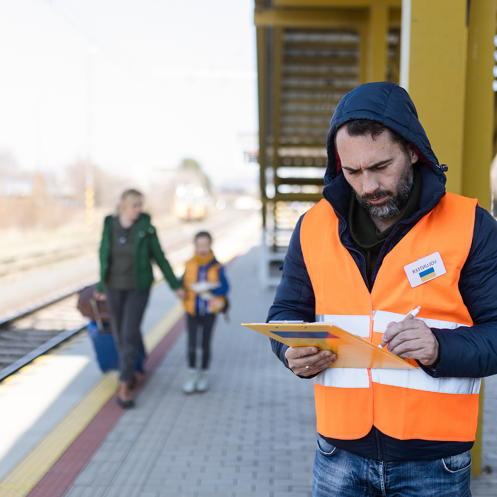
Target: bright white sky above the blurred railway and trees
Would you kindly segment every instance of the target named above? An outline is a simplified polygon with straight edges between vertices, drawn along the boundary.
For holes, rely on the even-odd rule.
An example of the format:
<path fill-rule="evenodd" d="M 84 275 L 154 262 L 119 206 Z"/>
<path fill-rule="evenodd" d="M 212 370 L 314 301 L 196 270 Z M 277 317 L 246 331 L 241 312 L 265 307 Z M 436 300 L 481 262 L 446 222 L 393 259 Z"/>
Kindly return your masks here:
<path fill-rule="evenodd" d="M 257 131 L 252 17 L 253 0 L 0 0 L 0 151 L 58 170 L 89 150 L 126 175 L 193 157 L 221 182 Z"/>

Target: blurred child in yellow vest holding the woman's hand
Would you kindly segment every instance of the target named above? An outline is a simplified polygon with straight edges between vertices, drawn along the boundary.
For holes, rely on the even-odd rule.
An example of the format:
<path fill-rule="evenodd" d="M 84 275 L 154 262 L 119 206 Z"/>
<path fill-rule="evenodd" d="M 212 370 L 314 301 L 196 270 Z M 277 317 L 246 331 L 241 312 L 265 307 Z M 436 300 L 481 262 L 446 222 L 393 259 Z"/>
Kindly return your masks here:
<path fill-rule="evenodd" d="M 212 237 L 206 231 L 195 235 L 195 255 L 186 263 L 183 306 L 188 325 L 188 373 L 183 384 L 185 393 L 204 392 L 209 388 L 207 368 L 210 358 L 212 328 L 218 312 L 226 309 L 228 281 L 223 266 L 211 250 Z M 201 330 L 202 357 L 196 369 L 198 331 Z"/>

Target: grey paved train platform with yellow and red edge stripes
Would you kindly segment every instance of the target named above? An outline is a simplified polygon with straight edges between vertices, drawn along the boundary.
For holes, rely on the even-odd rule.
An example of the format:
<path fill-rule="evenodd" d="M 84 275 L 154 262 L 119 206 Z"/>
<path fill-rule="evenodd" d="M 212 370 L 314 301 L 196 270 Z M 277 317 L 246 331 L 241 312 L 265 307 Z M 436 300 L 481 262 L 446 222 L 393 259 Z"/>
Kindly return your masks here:
<path fill-rule="evenodd" d="M 216 325 L 211 388 L 205 393 L 181 391 L 184 322 L 164 285 L 154 291 L 147 314 L 150 373 L 139 386 L 134 409 L 116 405 L 115 375 L 102 377 L 92 360 L 74 359 L 88 358 L 84 339 L 60 352 L 61 358 L 72 357 L 71 367 L 79 373 L 52 394 L 55 400 L 31 423 L 31 431 L 4 449 L 0 497 L 310 496 L 317 437 L 313 382 L 286 370 L 266 337 L 240 326 L 264 321 L 274 296 L 274 289 L 261 290 L 258 284 L 260 256 L 259 247 L 251 248 L 227 268 L 230 321 L 220 316 Z M 38 389 L 55 377 L 40 379 Z M 6 405 L 1 406 L 2 397 L 22 384 L 7 383 L 0 391 L 0 413 Z M 30 388 L 38 395 L 34 406 L 41 394 Z M 496 404 L 492 377 L 485 382 L 486 472 L 472 482 L 477 497 L 497 495 Z"/>

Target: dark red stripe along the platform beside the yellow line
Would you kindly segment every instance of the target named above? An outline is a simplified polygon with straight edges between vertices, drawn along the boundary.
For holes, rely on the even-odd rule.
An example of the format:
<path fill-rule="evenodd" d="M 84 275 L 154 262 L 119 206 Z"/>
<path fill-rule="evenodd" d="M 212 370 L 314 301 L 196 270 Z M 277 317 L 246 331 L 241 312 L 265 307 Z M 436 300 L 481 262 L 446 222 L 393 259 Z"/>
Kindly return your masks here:
<path fill-rule="evenodd" d="M 184 330 L 185 322 L 183 316 L 147 357 L 148 377 L 160 364 L 181 331 Z M 140 393 L 146 381 L 145 379 L 137 385 L 135 395 Z M 28 497 L 64 496 L 123 412 L 123 409 L 116 404 L 116 396 L 114 395 L 36 484 Z"/>

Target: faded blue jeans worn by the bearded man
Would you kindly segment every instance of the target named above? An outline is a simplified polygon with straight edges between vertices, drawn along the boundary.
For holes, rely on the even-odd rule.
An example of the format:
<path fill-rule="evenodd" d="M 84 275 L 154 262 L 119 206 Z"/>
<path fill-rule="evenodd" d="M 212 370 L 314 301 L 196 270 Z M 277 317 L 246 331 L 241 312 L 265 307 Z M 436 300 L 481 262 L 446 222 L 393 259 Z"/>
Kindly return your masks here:
<path fill-rule="evenodd" d="M 321 437 L 313 497 L 471 497 L 470 451 L 434 461 L 375 461 Z"/>

